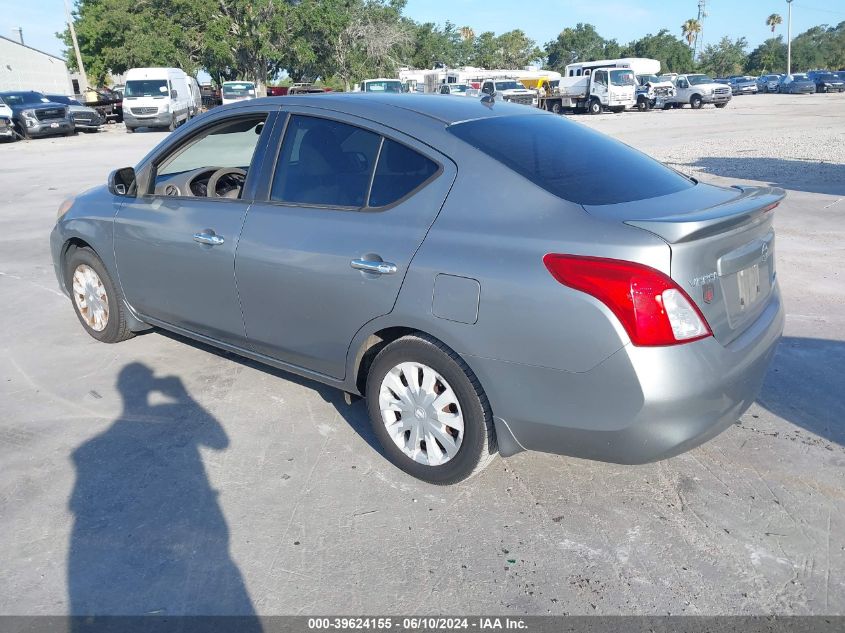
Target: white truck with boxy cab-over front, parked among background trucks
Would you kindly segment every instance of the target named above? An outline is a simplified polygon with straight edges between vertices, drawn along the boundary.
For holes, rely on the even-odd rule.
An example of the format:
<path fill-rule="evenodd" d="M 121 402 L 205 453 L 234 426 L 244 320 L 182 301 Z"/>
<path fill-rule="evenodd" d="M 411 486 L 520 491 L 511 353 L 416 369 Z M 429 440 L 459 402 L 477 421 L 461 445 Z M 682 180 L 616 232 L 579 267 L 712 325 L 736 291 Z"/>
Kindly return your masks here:
<path fill-rule="evenodd" d="M 622 112 L 636 104 L 636 86 L 634 71 L 629 68 L 597 68 L 592 74 L 548 82 L 537 105 L 551 112 L 586 110 L 601 114 L 605 108 Z"/>

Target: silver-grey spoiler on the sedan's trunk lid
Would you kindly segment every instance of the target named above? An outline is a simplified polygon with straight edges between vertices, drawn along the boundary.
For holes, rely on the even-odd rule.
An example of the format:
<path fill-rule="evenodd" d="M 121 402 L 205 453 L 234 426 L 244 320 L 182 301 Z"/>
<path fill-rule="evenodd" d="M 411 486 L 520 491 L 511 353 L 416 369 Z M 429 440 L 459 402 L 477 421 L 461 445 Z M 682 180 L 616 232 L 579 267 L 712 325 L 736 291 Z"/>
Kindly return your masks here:
<path fill-rule="evenodd" d="M 625 220 L 670 244 L 690 242 L 751 224 L 786 197 L 780 187 L 734 185 L 740 195 L 719 204 L 676 215 Z"/>

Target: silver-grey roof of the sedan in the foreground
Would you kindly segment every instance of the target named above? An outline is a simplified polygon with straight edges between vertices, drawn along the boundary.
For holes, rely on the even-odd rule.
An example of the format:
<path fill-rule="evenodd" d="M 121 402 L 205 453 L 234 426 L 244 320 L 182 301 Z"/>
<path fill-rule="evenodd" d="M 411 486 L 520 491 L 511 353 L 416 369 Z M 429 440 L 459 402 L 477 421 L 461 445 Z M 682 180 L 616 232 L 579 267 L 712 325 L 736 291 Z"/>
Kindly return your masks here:
<path fill-rule="evenodd" d="M 313 108 L 334 110 L 364 118 L 378 117 L 388 125 L 407 120 L 409 116 L 434 119 L 446 125 L 459 121 L 495 116 L 543 114 L 539 108 L 507 103 L 497 99 L 443 99 L 437 94 L 371 94 L 335 93 L 296 95 L 293 97 L 263 97 L 249 103 L 274 103 L 279 105 L 307 105 Z"/>

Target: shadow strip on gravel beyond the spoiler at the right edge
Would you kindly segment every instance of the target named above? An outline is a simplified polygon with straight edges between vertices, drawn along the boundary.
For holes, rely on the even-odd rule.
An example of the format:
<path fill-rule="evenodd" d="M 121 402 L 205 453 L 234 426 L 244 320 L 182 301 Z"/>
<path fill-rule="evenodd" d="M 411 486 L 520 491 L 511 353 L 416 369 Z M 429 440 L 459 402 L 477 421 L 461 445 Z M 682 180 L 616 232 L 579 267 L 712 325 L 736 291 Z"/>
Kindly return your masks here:
<path fill-rule="evenodd" d="M 754 157 L 702 157 L 692 162 L 668 161 L 689 172 L 723 178 L 759 180 L 773 186 L 834 196 L 845 195 L 845 164 Z"/>

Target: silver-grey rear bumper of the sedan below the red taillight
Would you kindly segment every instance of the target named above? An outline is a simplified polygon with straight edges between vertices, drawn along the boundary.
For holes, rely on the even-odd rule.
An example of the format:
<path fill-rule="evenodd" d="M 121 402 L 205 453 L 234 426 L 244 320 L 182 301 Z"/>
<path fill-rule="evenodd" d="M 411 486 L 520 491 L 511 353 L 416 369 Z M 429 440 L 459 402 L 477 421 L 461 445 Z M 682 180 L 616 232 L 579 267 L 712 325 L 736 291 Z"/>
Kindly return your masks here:
<path fill-rule="evenodd" d="M 732 425 L 754 402 L 783 332 L 775 287 L 761 316 L 723 346 L 626 345 L 583 373 L 470 357 L 498 429 L 521 448 L 622 464 L 665 459 Z"/>

